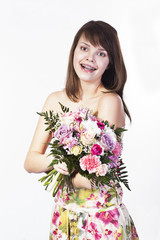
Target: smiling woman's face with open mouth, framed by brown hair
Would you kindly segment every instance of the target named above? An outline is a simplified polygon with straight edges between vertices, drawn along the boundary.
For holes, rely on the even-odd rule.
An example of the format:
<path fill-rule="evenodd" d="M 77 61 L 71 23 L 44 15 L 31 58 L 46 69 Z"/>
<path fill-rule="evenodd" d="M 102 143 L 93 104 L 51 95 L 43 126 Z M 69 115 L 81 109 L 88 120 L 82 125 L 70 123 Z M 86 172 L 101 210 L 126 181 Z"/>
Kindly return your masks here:
<path fill-rule="evenodd" d="M 102 46 L 94 47 L 82 35 L 74 51 L 73 66 L 82 81 L 101 82 L 109 64 L 109 56 Z"/>

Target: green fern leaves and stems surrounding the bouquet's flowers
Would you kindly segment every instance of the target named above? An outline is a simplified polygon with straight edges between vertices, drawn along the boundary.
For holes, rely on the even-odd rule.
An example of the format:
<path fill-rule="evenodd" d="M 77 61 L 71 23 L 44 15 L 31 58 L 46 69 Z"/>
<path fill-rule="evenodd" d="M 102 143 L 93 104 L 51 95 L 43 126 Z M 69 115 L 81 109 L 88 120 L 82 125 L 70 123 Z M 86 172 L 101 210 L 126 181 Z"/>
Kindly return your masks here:
<path fill-rule="evenodd" d="M 69 108 L 63 106 L 59 102 L 62 112 L 66 113 L 69 112 Z M 45 125 L 47 125 L 47 128 L 45 129 L 46 131 L 50 131 L 49 133 L 52 134 L 57 130 L 57 128 L 60 126 L 60 114 L 55 113 L 54 111 L 49 111 L 49 112 L 41 112 L 37 113 L 40 116 L 44 117 L 45 120 Z M 86 114 L 86 120 L 88 119 L 88 114 L 90 114 L 89 110 Z M 102 121 L 106 126 L 109 127 L 109 122 L 108 121 Z M 115 125 L 111 126 L 111 129 L 115 132 L 117 139 L 120 141 L 121 139 L 121 134 L 124 131 L 127 131 L 124 128 L 117 128 L 114 129 Z M 73 132 L 73 136 L 76 136 L 76 132 Z M 86 152 L 88 152 L 88 146 L 86 146 L 86 149 L 81 152 L 78 156 L 75 156 L 73 154 L 68 154 L 66 150 L 63 148 L 63 145 L 59 144 L 58 140 L 52 139 L 52 142 L 46 143 L 50 147 L 50 153 L 48 156 L 53 156 L 53 160 L 50 163 L 48 167 L 53 167 L 55 164 L 58 164 L 59 162 L 65 162 L 69 171 L 69 174 L 73 172 L 73 170 L 77 170 L 82 176 L 88 178 L 91 181 L 91 187 L 92 189 L 94 188 L 94 185 L 96 184 L 97 186 L 102 185 L 108 185 L 112 187 L 111 182 L 122 182 L 129 190 L 129 185 L 128 185 L 128 180 L 127 180 L 127 171 L 126 167 L 124 166 L 124 163 L 122 160 L 120 161 L 120 166 L 118 168 L 111 168 L 105 176 L 96 176 L 95 173 L 88 174 L 88 171 L 83 171 L 80 168 L 79 165 L 79 160 L 86 155 Z M 86 151 L 86 152 L 85 152 Z M 108 163 L 113 163 L 112 160 L 109 159 L 110 153 L 106 153 L 105 155 L 101 156 L 101 162 L 108 164 Z M 43 183 L 45 186 L 45 189 L 48 188 L 49 184 L 53 181 L 54 177 L 58 176 L 57 171 L 55 169 L 51 170 L 47 175 L 43 176 L 42 178 L 39 179 L 40 182 Z M 55 182 L 55 186 L 53 189 L 53 196 L 56 195 L 57 191 L 59 188 L 62 186 L 62 189 L 64 185 L 67 183 L 67 191 L 69 191 L 70 187 L 72 187 L 72 183 L 70 181 L 70 176 L 65 176 L 60 174 L 57 178 L 57 181 Z"/>

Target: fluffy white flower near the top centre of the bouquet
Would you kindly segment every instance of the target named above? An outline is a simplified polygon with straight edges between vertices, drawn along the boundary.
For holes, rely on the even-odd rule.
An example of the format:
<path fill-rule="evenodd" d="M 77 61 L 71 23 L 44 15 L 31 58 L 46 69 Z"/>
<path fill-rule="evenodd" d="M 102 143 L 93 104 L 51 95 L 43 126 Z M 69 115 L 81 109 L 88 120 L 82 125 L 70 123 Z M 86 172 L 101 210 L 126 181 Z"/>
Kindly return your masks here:
<path fill-rule="evenodd" d="M 87 132 L 92 133 L 93 135 L 100 135 L 101 133 L 101 129 L 97 126 L 97 122 L 94 122 L 91 119 L 82 121 L 81 127 L 86 128 Z"/>

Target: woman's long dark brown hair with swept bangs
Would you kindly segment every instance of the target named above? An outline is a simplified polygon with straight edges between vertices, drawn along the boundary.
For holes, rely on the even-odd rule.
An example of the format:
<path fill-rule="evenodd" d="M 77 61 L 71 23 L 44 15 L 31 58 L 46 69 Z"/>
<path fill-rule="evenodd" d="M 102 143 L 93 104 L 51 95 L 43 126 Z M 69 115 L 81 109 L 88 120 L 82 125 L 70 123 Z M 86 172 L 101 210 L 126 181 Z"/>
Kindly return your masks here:
<path fill-rule="evenodd" d="M 75 35 L 68 63 L 66 94 L 74 102 L 79 101 L 80 81 L 73 66 L 74 50 L 80 37 L 84 35 L 93 46 L 101 45 L 108 53 L 109 66 L 102 75 L 102 84 L 110 92 L 116 92 L 122 99 L 124 111 L 131 120 L 130 113 L 123 99 L 123 89 L 127 80 L 117 31 L 103 21 L 90 21 L 84 24 Z"/>

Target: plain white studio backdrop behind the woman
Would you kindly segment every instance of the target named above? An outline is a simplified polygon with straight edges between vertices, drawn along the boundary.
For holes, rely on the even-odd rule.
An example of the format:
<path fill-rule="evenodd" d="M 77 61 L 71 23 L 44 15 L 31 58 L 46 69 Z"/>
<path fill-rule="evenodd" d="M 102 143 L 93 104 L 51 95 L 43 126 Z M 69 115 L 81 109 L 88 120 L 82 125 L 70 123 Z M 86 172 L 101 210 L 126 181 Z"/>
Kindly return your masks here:
<path fill-rule="evenodd" d="M 141 240 L 160 239 L 159 0 L 0 1 L 0 239 L 47 240 L 53 198 L 23 168 L 47 96 L 64 87 L 77 30 L 103 20 L 119 34 L 132 115 L 123 159 L 123 202 Z"/>

